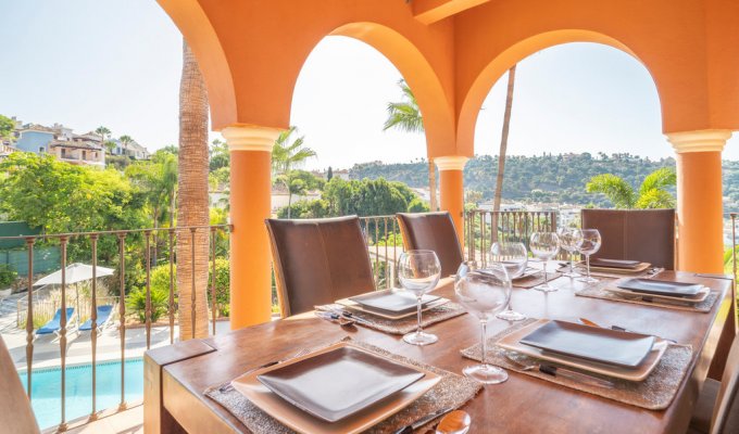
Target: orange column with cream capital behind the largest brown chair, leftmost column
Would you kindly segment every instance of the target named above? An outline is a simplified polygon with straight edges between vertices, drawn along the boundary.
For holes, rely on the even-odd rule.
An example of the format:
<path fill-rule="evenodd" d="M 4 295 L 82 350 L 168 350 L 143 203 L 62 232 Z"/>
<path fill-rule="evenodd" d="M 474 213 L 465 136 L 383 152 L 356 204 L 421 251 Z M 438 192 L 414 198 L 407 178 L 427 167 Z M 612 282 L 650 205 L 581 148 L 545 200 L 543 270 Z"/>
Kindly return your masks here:
<path fill-rule="evenodd" d="M 221 133 L 230 151 L 230 327 L 271 317 L 272 255 L 264 219 L 271 214 L 272 148 L 279 130 L 228 127 Z"/>

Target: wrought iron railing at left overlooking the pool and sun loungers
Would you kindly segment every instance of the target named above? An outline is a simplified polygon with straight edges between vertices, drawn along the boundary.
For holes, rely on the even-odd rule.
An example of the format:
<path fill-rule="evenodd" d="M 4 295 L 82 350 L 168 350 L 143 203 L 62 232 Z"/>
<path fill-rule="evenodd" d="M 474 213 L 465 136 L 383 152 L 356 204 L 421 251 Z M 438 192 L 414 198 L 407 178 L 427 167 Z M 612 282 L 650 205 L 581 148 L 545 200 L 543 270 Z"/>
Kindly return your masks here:
<path fill-rule="evenodd" d="M 216 332 L 216 320 L 218 314 L 218 301 L 216 296 L 216 259 L 218 254 L 225 256 L 228 252 L 228 241 L 229 241 L 230 227 L 226 225 L 220 226 L 189 226 L 189 227 L 177 227 L 177 228 L 158 228 L 158 229 L 136 229 L 136 230 L 113 230 L 113 231 L 97 231 L 97 232 L 78 232 L 78 233 L 55 233 L 55 234 L 42 234 L 42 235 L 29 235 L 29 237 L 0 237 L 0 241 L 22 241 L 25 244 L 25 250 L 28 257 L 28 275 L 26 289 L 27 294 L 16 302 L 17 314 L 16 314 L 16 324 L 25 329 L 25 383 L 26 393 L 28 398 L 34 400 L 33 396 L 33 376 L 34 376 L 34 349 L 37 339 L 37 331 L 39 328 L 39 321 L 37 316 L 42 315 L 46 318 L 53 316 L 52 312 L 60 311 L 59 328 L 54 331 L 58 336 L 59 343 L 59 368 L 61 372 L 61 387 L 60 387 L 60 423 L 58 425 L 58 431 L 62 432 L 67 429 L 67 413 L 66 413 L 66 400 L 67 400 L 67 390 L 66 390 L 66 363 L 67 363 L 67 344 L 68 344 L 68 333 L 74 331 L 71 328 L 71 323 L 67 322 L 66 308 L 74 308 L 76 315 L 78 315 L 76 326 L 78 326 L 83 319 L 90 320 L 90 355 L 89 360 L 91 362 L 91 408 L 88 416 L 88 420 L 92 421 L 98 418 L 100 413 L 97 408 L 97 360 L 98 360 L 98 328 L 101 326 L 98 318 L 98 307 L 102 306 L 101 303 L 110 304 L 111 306 L 117 306 L 116 312 L 111 312 L 111 315 L 116 314 L 118 320 L 118 339 L 120 339 L 120 360 L 121 360 L 121 400 L 118 403 L 118 410 L 124 410 L 128 407 L 126 403 L 126 331 L 129 324 L 130 312 L 127 310 L 127 301 L 130 298 L 131 290 L 137 285 L 137 283 L 131 281 L 130 275 L 136 273 L 141 278 L 139 288 L 139 294 L 141 291 L 145 292 L 145 307 L 143 311 L 139 311 L 138 315 L 143 316 L 143 327 L 146 329 L 146 348 L 151 347 L 151 336 L 152 327 L 166 327 L 168 328 L 168 341 L 170 343 L 175 342 L 175 320 L 178 317 L 178 303 L 177 298 L 181 291 L 178 291 L 175 285 L 175 266 L 177 261 L 176 254 L 176 243 L 177 240 L 183 240 L 185 237 L 188 238 L 188 244 L 191 245 L 189 252 L 190 264 L 192 268 L 192 279 L 190 288 L 191 299 L 190 304 L 192 306 L 192 311 L 190 312 L 190 328 L 192 330 L 192 336 L 195 336 L 196 331 L 196 295 L 198 293 L 206 292 L 208 303 L 210 304 L 210 318 L 209 321 L 212 322 L 212 328 L 210 333 L 215 334 Z M 201 257 L 206 260 L 208 267 L 210 269 L 210 278 L 208 279 L 206 288 L 197 288 L 195 270 L 198 264 L 198 257 L 196 255 L 196 243 L 208 241 L 208 257 Z M 61 270 L 61 284 L 58 285 L 59 293 L 52 297 L 53 299 L 36 299 L 37 292 L 33 290 L 36 276 L 34 276 L 34 246 L 39 244 L 51 244 L 58 245 L 61 251 L 60 270 Z M 104 258 L 102 261 L 99 259 L 99 247 L 104 246 Z M 117 254 L 116 254 L 117 253 Z M 180 252 L 180 254 L 186 254 Z M 82 304 L 79 295 L 76 294 L 75 302 L 71 302 L 70 284 L 67 284 L 66 268 L 67 263 L 72 256 L 75 260 L 89 260 L 91 263 L 92 276 L 89 280 L 90 289 L 88 296 L 84 297 Z M 168 267 L 168 291 L 166 294 L 166 306 L 153 306 L 152 305 L 152 266 L 156 266 L 160 260 L 164 260 L 160 267 Z M 107 295 L 100 295 L 98 291 L 98 266 L 99 265 L 114 265 L 115 273 L 112 281 L 109 281 Z M 137 270 L 137 272 L 135 272 Z M 199 280 L 203 280 L 202 278 Z M 117 288 L 115 288 L 117 284 Z M 165 283 L 166 284 L 166 283 Z M 180 289 L 181 290 L 181 289 Z M 116 303 L 117 302 L 117 303 Z M 161 299 L 158 297 L 158 303 Z M 70 306 L 72 304 L 72 306 Z M 168 319 L 165 323 L 152 323 L 154 310 L 163 309 L 165 310 L 166 317 Z M 82 317 L 82 318 L 80 318 Z M 202 319 L 201 319 L 202 320 Z M 78 331 L 78 330 L 77 330 Z"/>

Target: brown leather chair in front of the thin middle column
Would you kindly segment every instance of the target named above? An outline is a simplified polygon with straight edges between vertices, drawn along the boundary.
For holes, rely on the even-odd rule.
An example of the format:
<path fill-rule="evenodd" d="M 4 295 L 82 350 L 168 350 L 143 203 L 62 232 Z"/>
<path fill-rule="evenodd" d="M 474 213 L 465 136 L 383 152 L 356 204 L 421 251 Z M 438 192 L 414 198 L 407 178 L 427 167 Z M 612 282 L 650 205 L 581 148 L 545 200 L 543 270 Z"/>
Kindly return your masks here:
<path fill-rule="evenodd" d="M 397 216 L 405 250 L 434 251 L 441 264 L 441 276 L 456 273 L 464 256 L 449 213 L 398 213 Z"/>

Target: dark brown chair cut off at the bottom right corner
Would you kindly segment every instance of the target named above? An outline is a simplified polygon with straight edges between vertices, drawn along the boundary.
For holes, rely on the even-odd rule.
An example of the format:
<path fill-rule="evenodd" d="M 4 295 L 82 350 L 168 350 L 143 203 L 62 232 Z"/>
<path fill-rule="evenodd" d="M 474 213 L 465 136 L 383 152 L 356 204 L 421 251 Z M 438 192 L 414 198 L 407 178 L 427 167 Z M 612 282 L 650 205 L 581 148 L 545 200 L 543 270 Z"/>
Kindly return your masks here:
<path fill-rule="evenodd" d="M 722 381 L 703 382 L 688 433 L 739 433 L 739 335 L 731 343 Z"/>

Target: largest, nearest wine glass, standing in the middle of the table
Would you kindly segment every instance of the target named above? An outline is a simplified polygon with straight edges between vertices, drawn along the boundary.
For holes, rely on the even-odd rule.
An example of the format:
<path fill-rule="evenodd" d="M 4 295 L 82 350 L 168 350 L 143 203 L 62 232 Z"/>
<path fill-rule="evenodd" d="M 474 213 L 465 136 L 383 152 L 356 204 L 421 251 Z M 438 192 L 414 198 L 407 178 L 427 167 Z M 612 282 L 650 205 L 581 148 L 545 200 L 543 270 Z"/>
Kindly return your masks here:
<path fill-rule="evenodd" d="M 496 312 L 501 311 L 511 299 L 511 279 L 501 264 L 491 264 L 485 270 L 473 268 L 469 263 L 460 266 L 454 292 L 467 311 L 476 316 L 481 326 L 480 365 L 466 367 L 462 372 L 483 384 L 498 384 L 508 380 L 508 373 L 488 365 L 486 358 L 487 324 Z"/>

